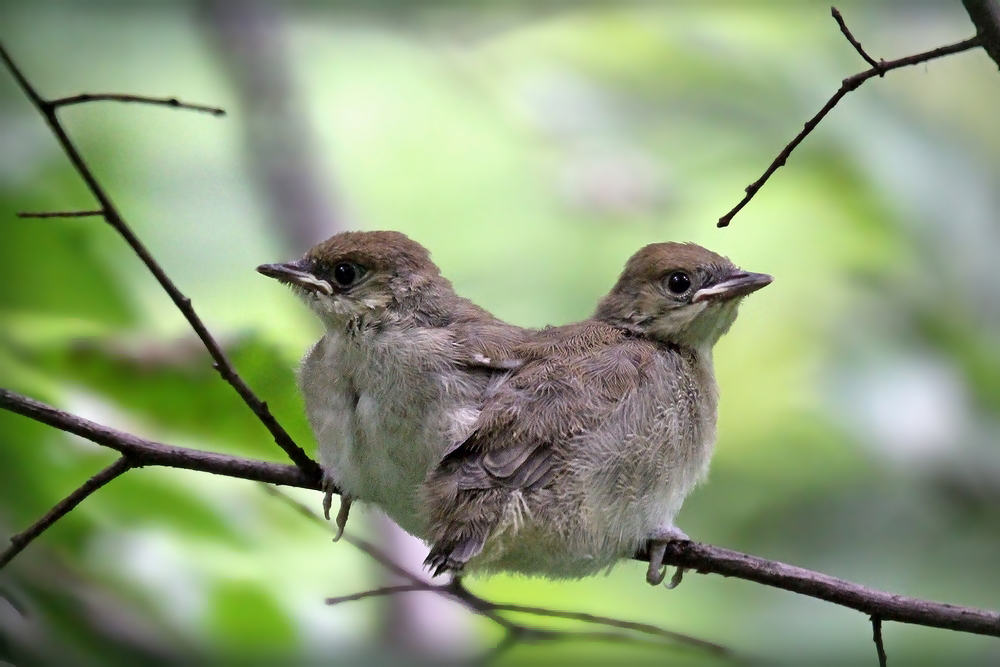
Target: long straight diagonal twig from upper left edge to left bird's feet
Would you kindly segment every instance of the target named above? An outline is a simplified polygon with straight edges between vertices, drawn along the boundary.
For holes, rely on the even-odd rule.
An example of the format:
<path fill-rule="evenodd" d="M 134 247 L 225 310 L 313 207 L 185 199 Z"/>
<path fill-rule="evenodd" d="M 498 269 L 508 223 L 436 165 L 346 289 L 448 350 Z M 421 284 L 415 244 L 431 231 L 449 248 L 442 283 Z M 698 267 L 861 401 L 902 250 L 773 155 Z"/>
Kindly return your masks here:
<path fill-rule="evenodd" d="M 126 224 L 125 220 L 122 218 L 121 214 L 118 212 L 118 208 L 111 201 L 111 198 L 104 191 L 104 188 L 97 182 L 94 177 L 93 172 L 87 163 L 84 161 L 80 152 L 77 150 L 76 146 L 70 140 L 69 135 L 63 129 L 62 124 L 59 122 L 59 118 L 56 115 L 58 107 L 54 102 L 50 102 L 42 98 L 35 88 L 28 82 L 21 70 L 14 64 L 7 51 L 0 44 L 0 60 L 4 62 L 7 69 L 10 71 L 11 75 L 17 81 L 21 90 L 24 94 L 31 100 L 31 103 L 35 106 L 38 112 L 45 119 L 46 124 L 49 129 L 55 135 L 56 140 L 59 145 L 62 146 L 63 152 L 66 153 L 66 157 L 73 164 L 80 178 L 86 183 L 87 188 L 93 194 L 94 198 L 101 205 L 101 210 L 104 212 L 104 219 L 107 220 L 108 224 L 111 225 L 115 231 L 117 231 L 125 242 L 129 245 L 132 251 L 142 260 L 142 263 L 146 265 L 149 272 L 153 274 L 156 281 L 160 284 L 160 287 L 167 293 L 170 300 L 174 302 L 174 305 L 181 311 L 185 319 L 187 319 L 188 324 L 194 329 L 198 338 L 205 345 L 208 353 L 212 356 L 214 360 L 213 367 L 219 372 L 219 374 L 226 380 L 232 387 L 236 390 L 236 393 L 240 395 L 243 402 L 250 407 L 257 418 L 264 424 L 267 430 L 271 433 L 274 441 L 281 447 L 288 458 L 292 462 L 302 469 L 304 473 L 311 477 L 315 477 L 319 480 L 322 477 L 322 470 L 315 461 L 309 458 L 308 455 L 295 444 L 291 436 L 285 431 L 284 428 L 278 423 L 271 414 L 271 411 L 267 407 L 267 403 L 260 400 L 257 395 L 247 386 L 243 378 L 239 376 L 236 369 L 233 368 L 229 359 L 226 357 L 222 348 L 209 333 L 208 328 L 205 326 L 204 322 L 195 312 L 194 308 L 191 306 L 191 299 L 185 296 L 174 284 L 174 282 L 167 276 L 163 267 L 153 259 L 152 254 L 146 249 L 142 241 L 135 235 L 131 227 Z"/>

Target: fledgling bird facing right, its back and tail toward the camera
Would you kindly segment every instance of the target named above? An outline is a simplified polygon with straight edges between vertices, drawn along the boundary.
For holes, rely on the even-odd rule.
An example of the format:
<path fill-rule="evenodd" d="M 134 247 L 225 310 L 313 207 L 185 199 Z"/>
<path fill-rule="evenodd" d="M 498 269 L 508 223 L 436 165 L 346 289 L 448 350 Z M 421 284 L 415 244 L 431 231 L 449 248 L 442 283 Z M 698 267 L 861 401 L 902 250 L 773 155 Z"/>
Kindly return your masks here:
<path fill-rule="evenodd" d="M 694 244 L 649 245 L 591 319 L 505 349 L 517 368 L 424 485 L 427 565 L 576 578 L 648 543 L 660 583 L 715 443 L 712 347 L 770 282 Z"/>

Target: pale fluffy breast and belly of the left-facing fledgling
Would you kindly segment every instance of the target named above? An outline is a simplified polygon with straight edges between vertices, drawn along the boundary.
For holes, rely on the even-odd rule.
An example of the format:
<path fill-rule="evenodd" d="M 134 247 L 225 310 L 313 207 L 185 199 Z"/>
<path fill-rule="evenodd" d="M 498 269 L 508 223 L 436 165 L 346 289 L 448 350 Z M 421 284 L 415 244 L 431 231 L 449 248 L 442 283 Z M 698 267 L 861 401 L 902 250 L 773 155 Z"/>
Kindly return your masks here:
<path fill-rule="evenodd" d="M 479 415 L 482 387 L 451 367 L 449 346 L 441 329 L 327 332 L 299 373 L 324 471 L 418 537 L 417 490 Z"/>

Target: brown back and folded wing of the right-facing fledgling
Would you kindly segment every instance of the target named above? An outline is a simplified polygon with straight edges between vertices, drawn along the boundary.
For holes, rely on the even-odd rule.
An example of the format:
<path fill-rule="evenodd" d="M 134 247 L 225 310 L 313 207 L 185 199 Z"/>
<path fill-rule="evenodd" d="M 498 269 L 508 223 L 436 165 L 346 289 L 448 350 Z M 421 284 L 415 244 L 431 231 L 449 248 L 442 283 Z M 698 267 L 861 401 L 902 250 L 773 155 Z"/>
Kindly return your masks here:
<path fill-rule="evenodd" d="M 596 322 L 532 332 L 514 348 L 521 365 L 428 476 L 428 564 L 460 569 L 479 553 L 512 494 L 548 485 L 576 436 L 597 428 L 638 385 L 654 353 L 650 343 Z"/>

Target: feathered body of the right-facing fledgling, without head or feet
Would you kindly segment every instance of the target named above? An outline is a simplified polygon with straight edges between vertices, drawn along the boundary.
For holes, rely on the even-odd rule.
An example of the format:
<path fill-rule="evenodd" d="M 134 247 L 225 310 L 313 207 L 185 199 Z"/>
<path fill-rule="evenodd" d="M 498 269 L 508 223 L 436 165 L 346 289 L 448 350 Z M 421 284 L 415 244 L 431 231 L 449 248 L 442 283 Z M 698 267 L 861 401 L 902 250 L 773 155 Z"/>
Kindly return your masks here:
<path fill-rule="evenodd" d="M 707 471 L 711 357 L 600 322 L 538 332 L 515 354 L 526 363 L 425 485 L 435 550 L 459 551 L 437 564 L 471 554 L 473 572 L 606 569 L 669 528 Z"/>

